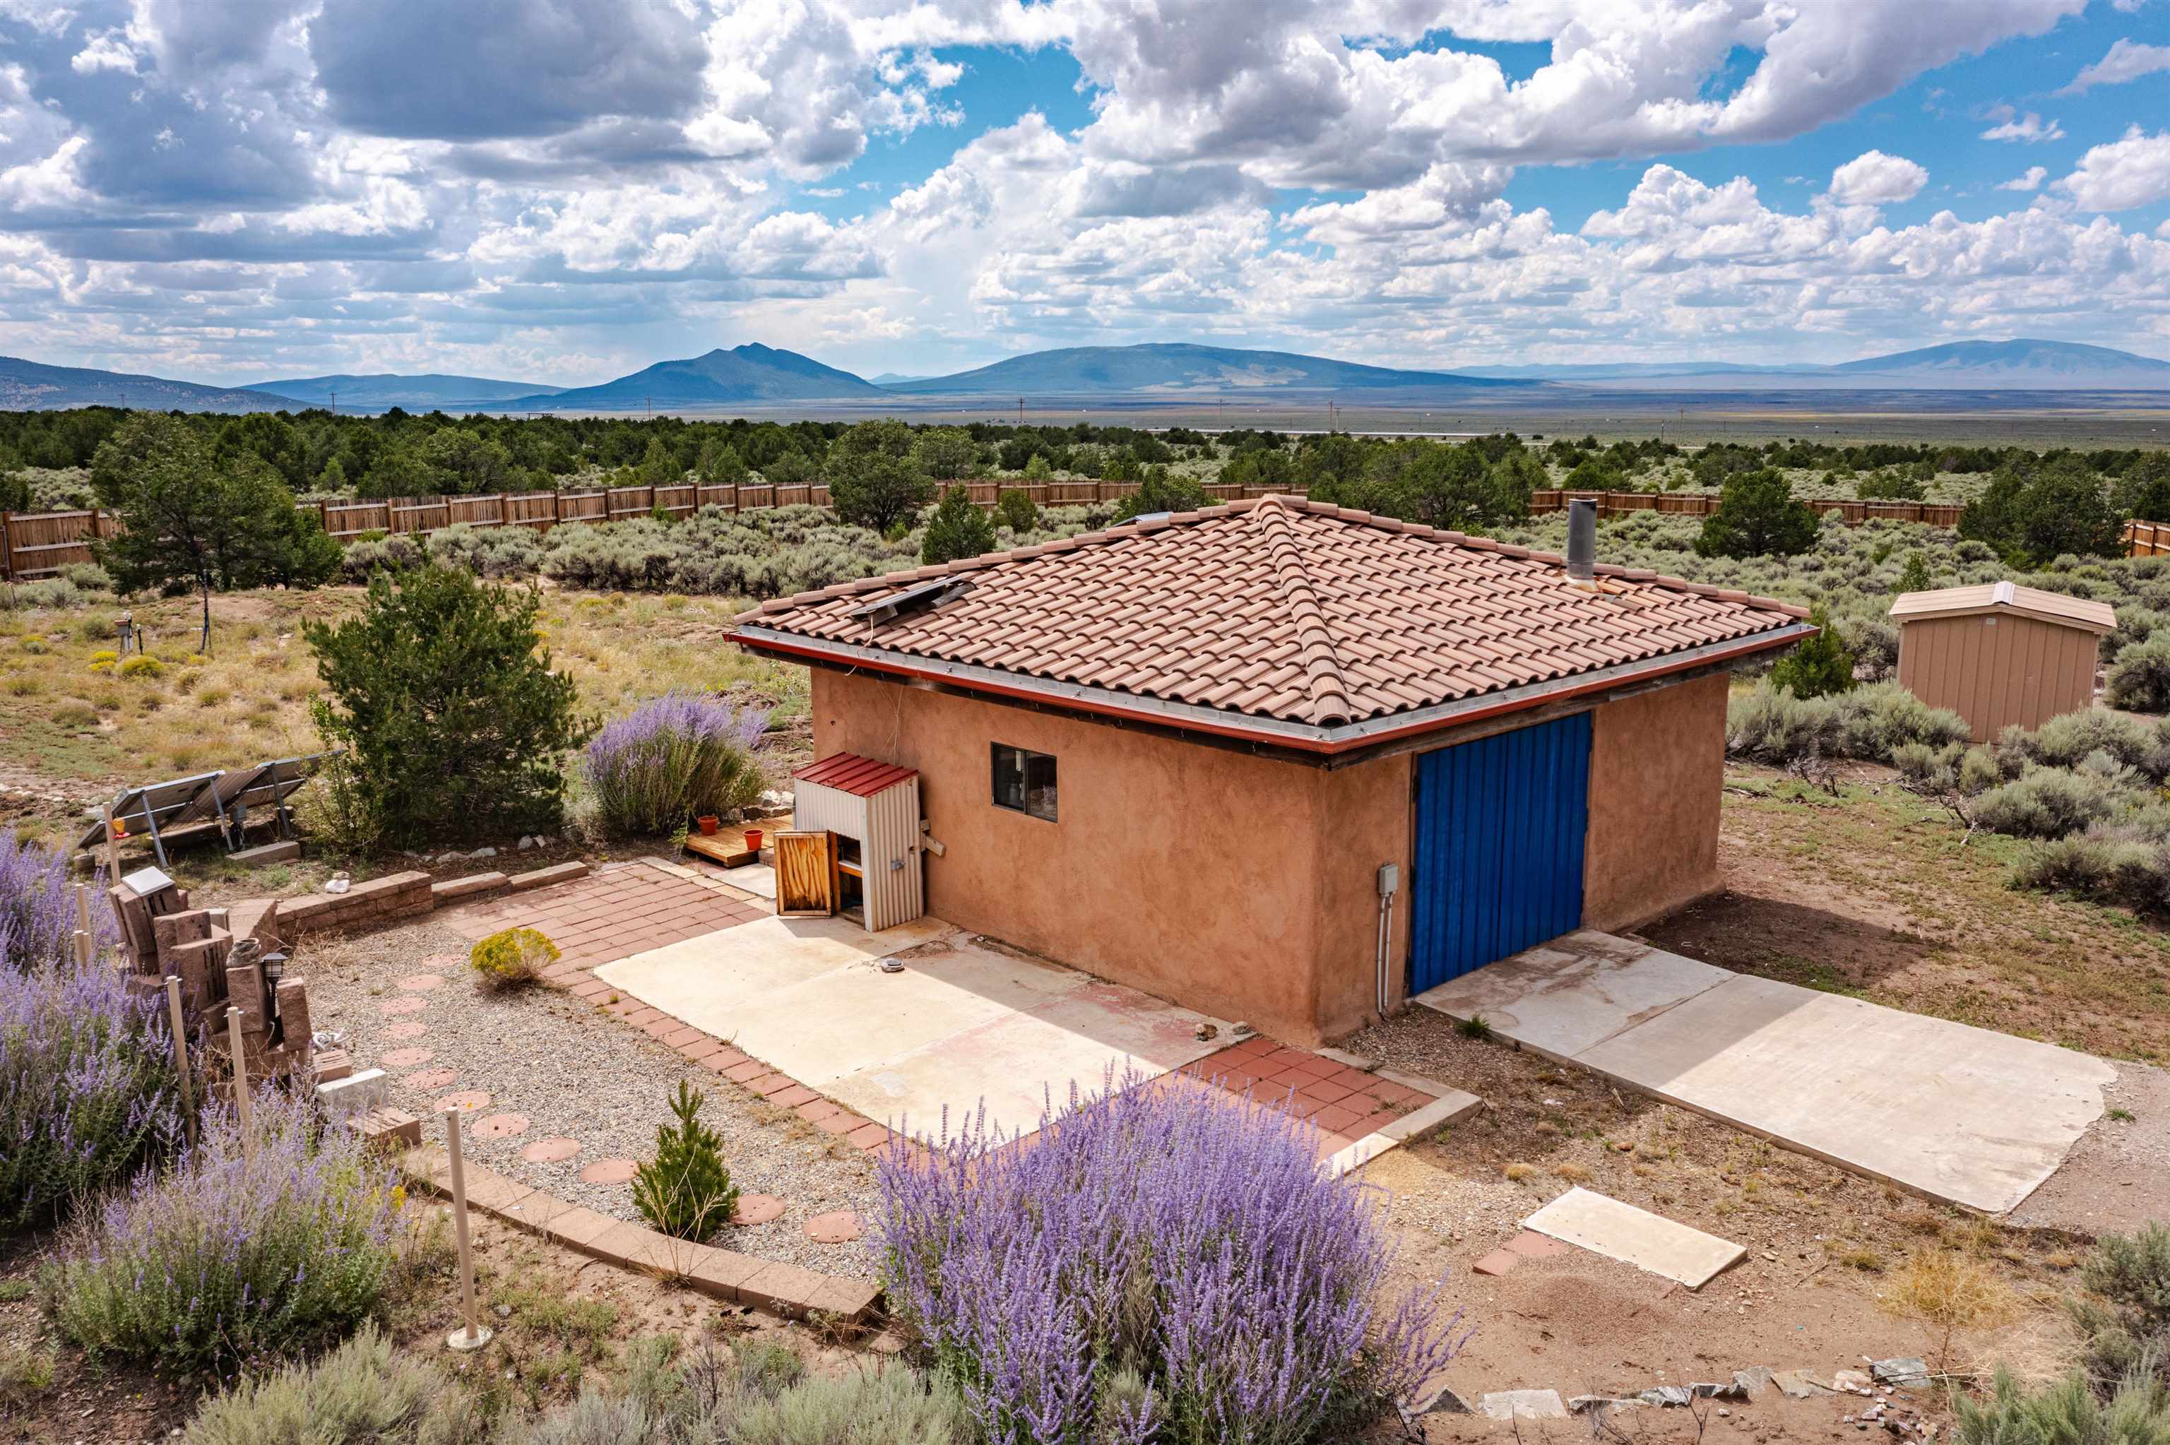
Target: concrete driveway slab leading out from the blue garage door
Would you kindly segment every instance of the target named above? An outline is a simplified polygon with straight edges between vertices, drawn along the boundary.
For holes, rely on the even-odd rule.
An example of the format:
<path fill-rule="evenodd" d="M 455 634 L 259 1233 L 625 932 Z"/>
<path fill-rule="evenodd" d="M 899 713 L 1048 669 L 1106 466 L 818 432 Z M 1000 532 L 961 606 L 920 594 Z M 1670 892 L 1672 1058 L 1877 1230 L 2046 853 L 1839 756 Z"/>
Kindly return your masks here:
<path fill-rule="evenodd" d="M 1933 1200 L 2005 1213 L 2103 1113 L 2111 1065 L 1591 935 L 1415 1002 Z M 1604 935 L 1595 935 L 1604 937 Z"/>

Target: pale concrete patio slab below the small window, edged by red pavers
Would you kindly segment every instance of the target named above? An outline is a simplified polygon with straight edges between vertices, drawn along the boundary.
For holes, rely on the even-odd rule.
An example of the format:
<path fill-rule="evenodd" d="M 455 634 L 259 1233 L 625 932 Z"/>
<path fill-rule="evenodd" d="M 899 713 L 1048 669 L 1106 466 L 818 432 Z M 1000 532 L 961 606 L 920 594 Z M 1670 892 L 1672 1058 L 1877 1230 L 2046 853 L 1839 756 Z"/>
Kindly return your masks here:
<path fill-rule="evenodd" d="M 905 970 L 879 959 L 907 952 Z M 1009 1133 L 1039 1124 L 1046 1098 L 1085 1094 L 1137 1067 L 1163 1074 L 1224 1044 L 1226 1020 L 1176 1009 L 1009 950 L 940 920 L 866 933 L 835 918 L 762 918 L 595 970 L 877 1122 L 940 1128 L 987 1107 Z"/>

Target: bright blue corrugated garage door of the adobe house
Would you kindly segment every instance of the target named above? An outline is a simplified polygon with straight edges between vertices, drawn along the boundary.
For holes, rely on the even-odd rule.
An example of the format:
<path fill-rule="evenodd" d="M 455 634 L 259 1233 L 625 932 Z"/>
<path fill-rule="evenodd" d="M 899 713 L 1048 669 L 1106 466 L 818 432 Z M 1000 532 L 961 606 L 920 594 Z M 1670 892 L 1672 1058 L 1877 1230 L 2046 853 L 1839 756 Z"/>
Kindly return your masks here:
<path fill-rule="evenodd" d="M 1591 714 L 1417 757 L 1413 992 L 1582 926 Z"/>

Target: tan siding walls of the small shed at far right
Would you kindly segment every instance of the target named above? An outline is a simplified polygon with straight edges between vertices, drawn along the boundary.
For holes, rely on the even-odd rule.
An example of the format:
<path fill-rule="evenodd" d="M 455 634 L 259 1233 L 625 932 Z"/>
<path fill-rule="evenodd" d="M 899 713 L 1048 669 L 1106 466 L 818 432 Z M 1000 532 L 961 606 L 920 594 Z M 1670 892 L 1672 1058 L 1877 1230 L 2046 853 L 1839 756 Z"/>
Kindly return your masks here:
<path fill-rule="evenodd" d="M 2096 636 L 2027 616 L 1920 618 L 1899 629 L 1899 683 L 1951 707 L 1977 742 L 2094 703 Z"/>

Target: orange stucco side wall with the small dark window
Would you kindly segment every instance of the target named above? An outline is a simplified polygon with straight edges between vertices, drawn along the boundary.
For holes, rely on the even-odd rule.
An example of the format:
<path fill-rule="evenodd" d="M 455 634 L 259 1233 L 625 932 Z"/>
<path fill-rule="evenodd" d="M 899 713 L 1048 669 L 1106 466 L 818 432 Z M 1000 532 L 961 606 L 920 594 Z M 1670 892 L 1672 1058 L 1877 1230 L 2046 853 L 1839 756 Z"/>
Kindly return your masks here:
<path fill-rule="evenodd" d="M 990 742 L 1055 755 L 1057 822 L 994 807 Z M 1319 864 L 1326 772 L 816 668 L 814 753 L 840 751 L 920 770 L 946 848 L 927 857 L 935 918 L 1280 1039 L 1319 1037 L 1322 894 L 1343 872 Z"/>

